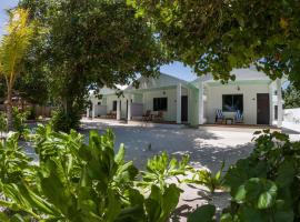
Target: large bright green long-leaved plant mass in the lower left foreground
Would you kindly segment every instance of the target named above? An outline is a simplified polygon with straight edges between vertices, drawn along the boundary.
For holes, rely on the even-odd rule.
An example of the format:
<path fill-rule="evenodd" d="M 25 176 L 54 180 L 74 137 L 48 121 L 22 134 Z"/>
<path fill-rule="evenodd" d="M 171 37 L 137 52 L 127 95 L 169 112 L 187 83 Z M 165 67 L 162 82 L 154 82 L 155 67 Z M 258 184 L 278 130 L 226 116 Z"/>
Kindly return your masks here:
<path fill-rule="evenodd" d="M 140 180 L 138 169 L 124 161 L 123 145 L 114 153 L 113 139 L 111 131 L 103 135 L 91 131 L 86 144 L 74 131 L 67 134 L 39 125 L 31 137 L 39 155 L 34 167 L 18 148 L 17 137 L 11 139 L 14 149 L 7 157 L 11 163 L 1 168 L 7 172 L 0 174 L 6 198 L 0 205 L 19 221 L 164 222 L 178 204 L 180 189 L 152 184 L 142 194 L 134 185 Z M 6 213 L 0 216 L 10 221 Z"/>

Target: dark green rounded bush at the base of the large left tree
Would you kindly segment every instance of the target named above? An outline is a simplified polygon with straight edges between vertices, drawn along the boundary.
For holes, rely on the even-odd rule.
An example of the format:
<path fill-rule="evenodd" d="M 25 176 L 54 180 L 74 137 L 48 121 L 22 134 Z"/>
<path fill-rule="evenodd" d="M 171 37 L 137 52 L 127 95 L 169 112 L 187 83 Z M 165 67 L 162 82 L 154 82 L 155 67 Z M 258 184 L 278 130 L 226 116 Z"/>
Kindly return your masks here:
<path fill-rule="evenodd" d="M 54 131 L 70 132 L 70 130 L 76 130 L 80 124 L 80 114 L 78 112 L 68 112 L 59 109 L 52 112 L 51 125 Z"/>

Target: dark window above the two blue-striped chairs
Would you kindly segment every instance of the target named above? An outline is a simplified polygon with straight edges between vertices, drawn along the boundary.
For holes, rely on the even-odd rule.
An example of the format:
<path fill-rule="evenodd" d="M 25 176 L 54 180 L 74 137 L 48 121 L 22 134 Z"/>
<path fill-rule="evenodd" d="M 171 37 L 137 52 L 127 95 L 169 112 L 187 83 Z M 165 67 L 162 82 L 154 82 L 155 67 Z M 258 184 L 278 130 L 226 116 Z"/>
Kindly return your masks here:
<path fill-rule="evenodd" d="M 224 112 L 243 111 L 242 94 L 223 94 L 222 109 Z"/>

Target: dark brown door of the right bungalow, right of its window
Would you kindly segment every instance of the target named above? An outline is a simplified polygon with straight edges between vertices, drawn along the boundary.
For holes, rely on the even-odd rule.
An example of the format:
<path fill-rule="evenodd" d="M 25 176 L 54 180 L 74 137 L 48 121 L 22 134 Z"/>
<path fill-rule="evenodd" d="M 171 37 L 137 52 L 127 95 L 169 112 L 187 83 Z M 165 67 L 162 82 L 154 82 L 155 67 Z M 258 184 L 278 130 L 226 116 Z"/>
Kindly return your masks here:
<path fill-rule="evenodd" d="M 270 124 L 270 102 L 269 93 L 257 94 L 257 123 Z"/>

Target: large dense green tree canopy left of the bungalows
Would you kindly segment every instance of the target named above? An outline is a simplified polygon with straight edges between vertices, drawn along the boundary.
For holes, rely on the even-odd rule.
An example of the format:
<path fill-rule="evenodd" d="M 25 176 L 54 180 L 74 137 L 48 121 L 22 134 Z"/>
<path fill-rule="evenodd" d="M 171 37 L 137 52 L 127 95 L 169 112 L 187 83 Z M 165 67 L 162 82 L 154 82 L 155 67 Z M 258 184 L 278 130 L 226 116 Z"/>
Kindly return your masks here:
<path fill-rule="evenodd" d="M 156 75 L 166 61 L 146 20 L 124 0 L 22 0 L 20 6 L 39 26 L 28 69 L 33 64 L 47 73 L 50 92 L 66 111 L 82 109 L 90 89 Z"/>

